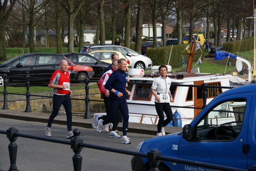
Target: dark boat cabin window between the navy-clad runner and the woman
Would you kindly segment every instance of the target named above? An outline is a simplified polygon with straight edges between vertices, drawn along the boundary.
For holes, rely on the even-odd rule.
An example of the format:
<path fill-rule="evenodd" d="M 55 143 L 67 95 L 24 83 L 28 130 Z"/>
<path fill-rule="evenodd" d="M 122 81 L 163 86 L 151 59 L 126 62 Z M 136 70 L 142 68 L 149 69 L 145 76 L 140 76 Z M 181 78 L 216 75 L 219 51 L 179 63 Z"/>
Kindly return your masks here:
<path fill-rule="evenodd" d="M 148 100 L 151 101 L 152 93 L 151 85 L 139 85 L 135 86 L 134 94 L 132 99 L 133 100 Z"/>

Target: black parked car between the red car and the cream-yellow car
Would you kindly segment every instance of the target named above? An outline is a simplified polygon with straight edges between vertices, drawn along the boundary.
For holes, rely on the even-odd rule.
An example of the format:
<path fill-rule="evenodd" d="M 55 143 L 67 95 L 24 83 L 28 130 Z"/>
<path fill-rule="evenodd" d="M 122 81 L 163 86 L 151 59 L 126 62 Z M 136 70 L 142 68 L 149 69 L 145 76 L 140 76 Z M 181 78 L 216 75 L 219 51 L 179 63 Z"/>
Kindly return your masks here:
<path fill-rule="evenodd" d="M 94 71 L 93 77 L 101 77 L 104 73 L 104 69 L 109 66 L 109 63 L 102 62 L 89 54 L 67 53 L 63 55 L 66 56 L 71 62 L 73 62 L 76 65 L 92 67 Z"/>

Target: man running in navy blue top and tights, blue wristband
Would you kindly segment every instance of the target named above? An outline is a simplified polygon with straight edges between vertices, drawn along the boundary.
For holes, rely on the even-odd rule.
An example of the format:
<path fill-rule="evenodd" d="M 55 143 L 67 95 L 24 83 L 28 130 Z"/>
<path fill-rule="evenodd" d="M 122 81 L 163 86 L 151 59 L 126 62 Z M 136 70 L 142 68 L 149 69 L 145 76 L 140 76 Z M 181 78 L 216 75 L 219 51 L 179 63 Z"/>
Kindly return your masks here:
<path fill-rule="evenodd" d="M 128 121 L 129 121 L 129 111 L 128 105 L 126 101 L 126 95 L 131 94 L 130 91 L 126 89 L 127 83 L 127 73 L 126 73 L 127 63 L 124 58 L 118 60 L 118 70 L 114 71 L 108 81 L 105 84 L 105 88 L 110 91 L 109 95 L 109 105 L 110 105 L 110 117 L 106 118 L 104 121 L 102 119 L 99 120 L 97 131 L 104 128 L 104 125 L 107 123 L 114 123 L 116 120 L 118 109 L 120 109 L 123 116 L 123 136 L 121 139 L 121 143 L 130 144 L 131 141 L 128 137 L 126 137 L 128 130 Z M 116 128 L 112 128 L 112 130 L 116 130 Z M 113 136 L 112 136 L 113 134 Z M 117 137 L 115 131 L 110 132 L 110 137 Z M 118 136 L 119 137 L 119 136 Z"/>

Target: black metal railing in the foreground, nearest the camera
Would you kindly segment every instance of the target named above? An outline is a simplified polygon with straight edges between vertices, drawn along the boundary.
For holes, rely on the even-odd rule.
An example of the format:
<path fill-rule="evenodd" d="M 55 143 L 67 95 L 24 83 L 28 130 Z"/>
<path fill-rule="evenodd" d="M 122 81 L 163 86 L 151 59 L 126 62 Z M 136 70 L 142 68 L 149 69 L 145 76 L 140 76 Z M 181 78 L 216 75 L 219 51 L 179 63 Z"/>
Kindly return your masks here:
<path fill-rule="evenodd" d="M 7 138 L 10 141 L 10 144 L 8 145 L 9 150 L 9 156 L 10 156 L 10 167 L 8 171 L 18 171 L 18 167 L 16 166 L 16 158 L 17 158 L 17 151 L 18 151 L 18 145 L 16 143 L 17 137 L 24 137 L 29 139 L 37 139 L 40 141 L 49 141 L 54 143 L 60 143 L 60 144 L 66 144 L 70 145 L 71 149 L 74 151 L 74 155 L 72 156 L 73 161 L 73 167 L 74 171 L 81 171 L 82 170 L 82 156 L 80 155 L 80 152 L 82 151 L 83 147 L 96 149 L 96 150 L 103 150 L 103 151 L 110 151 L 114 153 L 121 153 L 124 155 L 132 155 L 132 156 L 138 156 L 138 157 L 144 157 L 148 159 L 148 163 L 150 163 L 150 166 L 152 167 L 151 171 L 158 171 L 158 166 L 162 161 L 170 161 L 180 164 L 187 164 L 187 165 L 193 165 L 198 167 L 206 167 L 209 169 L 217 169 L 222 171 L 247 171 L 244 169 L 237 169 L 233 167 L 225 167 L 220 165 L 214 165 L 214 164 L 208 164 L 208 163 L 202 163 L 198 161 L 191 161 L 191 160 L 185 160 L 185 159 L 177 159 L 173 157 L 166 157 L 162 156 L 161 152 L 157 149 L 152 149 L 148 151 L 148 153 L 140 153 L 136 151 L 128 151 L 128 150 L 122 150 L 122 149 L 114 149 L 110 147 L 104 147 L 99 145 L 92 145 L 92 144 L 86 144 L 83 143 L 83 139 L 79 137 L 80 130 L 74 129 L 73 133 L 75 137 L 71 139 L 70 141 L 67 140 L 60 140 L 60 139 L 52 139 L 47 137 L 39 137 L 35 135 L 28 135 L 24 133 L 19 133 L 18 129 L 15 127 L 10 127 L 6 131 L 0 130 L 1 134 L 6 134 Z M 84 169 L 83 169 L 84 170 Z M 248 171 L 256 171 L 256 165 L 254 165 L 252 168 L 248 169 Z"/>

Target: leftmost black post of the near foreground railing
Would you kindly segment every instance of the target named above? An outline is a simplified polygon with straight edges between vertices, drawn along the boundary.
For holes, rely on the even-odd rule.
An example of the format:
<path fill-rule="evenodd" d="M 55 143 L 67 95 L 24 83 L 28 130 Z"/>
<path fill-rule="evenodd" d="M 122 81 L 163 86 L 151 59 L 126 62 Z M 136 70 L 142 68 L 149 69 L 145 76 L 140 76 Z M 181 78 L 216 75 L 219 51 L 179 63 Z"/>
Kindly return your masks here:
<path fill-rule="evenodd" d="M 19 171 L 16 166 L 17 149 L 18 145 L 15 143 L 17 137 L 13 133 L 18 133 L 18 129 L 10 127 L 6 130 L 7 138 L 9 138 L 10 144 L 8 145 L 9 156 L 10 156 L 10 167 L 8 171 Z"/>

